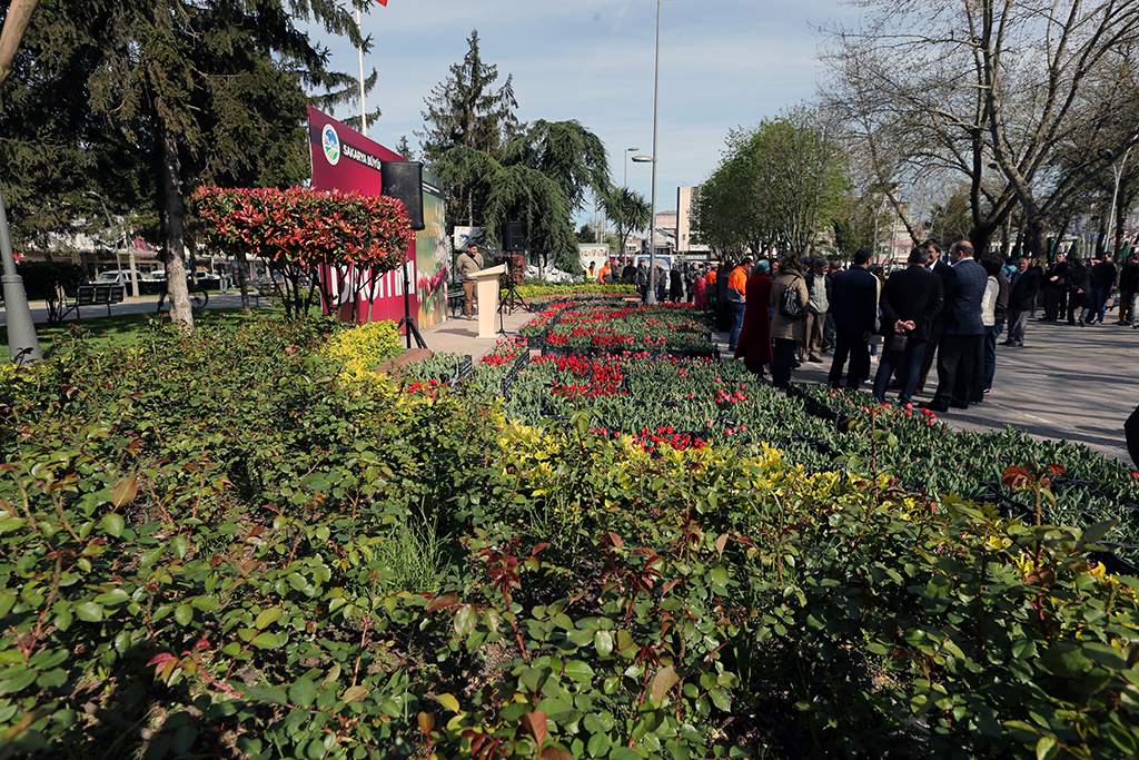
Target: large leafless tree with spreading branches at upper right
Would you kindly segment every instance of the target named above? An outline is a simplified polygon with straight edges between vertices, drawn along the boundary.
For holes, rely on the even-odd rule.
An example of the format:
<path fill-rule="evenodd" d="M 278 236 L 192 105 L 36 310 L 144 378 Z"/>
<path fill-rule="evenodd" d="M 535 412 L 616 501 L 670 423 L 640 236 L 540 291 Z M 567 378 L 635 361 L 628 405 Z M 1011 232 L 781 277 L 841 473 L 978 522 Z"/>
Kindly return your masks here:
<path fill-rule="evenodd" d="M 1042 253 L 1050 216 L 1105 167 L 1092 156 L 1059 172 L 1051 157 L 1087 139 L 1097 113 L 1123 107 L 1122 90 L 1106 100 L 1089 90 L 1130 63 L 1139 0 L 855 5 L 866 8 L 859 28 L 826 30 L 828 103 L 867 145 L 888 144 L 909 177 L 965 174 L 977 250 L 1023 205 L 1025 246 Z M 1115 155 L 1134 139 L 1112 146 Z"/>

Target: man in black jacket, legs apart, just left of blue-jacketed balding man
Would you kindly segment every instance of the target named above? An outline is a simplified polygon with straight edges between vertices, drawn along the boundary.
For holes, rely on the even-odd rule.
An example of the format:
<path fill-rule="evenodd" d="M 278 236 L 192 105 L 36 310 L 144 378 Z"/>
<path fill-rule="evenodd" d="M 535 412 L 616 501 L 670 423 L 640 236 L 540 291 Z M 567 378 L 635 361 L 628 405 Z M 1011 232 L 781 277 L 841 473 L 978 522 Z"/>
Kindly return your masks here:
<path fill-rule="evenodd" d="M 926 343 L 929 342 L 933 322 L 944 304 L 942 279 L 926 269 L 927 259 L 924 248 L 913 248 L 909 267 L 891 275 L 882 288 L 882 334 L 886 340 L 883 343 L 878 374 L 874 378 L 874 395 L 879 401 L 886 400 L 886 384 L 899 365 L 904 368 L 899 375 L 906 379 L 898 399 L 902 403 L 913 401 L 913 389 L 918 384 Z M 906 336 L 904 350 L 891 346 L 893 335 Z"/>

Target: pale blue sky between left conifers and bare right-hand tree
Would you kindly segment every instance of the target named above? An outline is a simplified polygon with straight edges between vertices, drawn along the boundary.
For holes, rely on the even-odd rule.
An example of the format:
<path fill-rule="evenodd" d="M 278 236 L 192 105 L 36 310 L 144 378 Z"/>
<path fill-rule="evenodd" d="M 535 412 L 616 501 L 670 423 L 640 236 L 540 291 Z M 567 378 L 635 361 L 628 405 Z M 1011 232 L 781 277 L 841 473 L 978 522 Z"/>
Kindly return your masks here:
<path fill-rule="evenodd" d="M 817 28 L 855 18 L 838 0 L 663 0 L 661 2 L 657 211 L 677 207 L 677 188 L 718 165 L 734 128 L 814 98 L 823 68 Z M 478 31 L 480 52 L 514 76 L 523 122 L 576 120 L 609 154 L 614 183 L 652 196 L 654 0 L 388 0 L 361 17 L 375 41 L 364 70 L 379 72 L 368 108 L 383 115 L 368 137 L 418 148 L 424 98 L 462 60 Z M 318 38 L 320 39 L 320 38 Z M 357 51 L 323 39 L 333 67 L 357 73 Z M 359 113 L 342 107 L 336 117 Z M 639 148 L 634 153 L 626 148 Z M 622 165 L 622 162 L 626 162 Z M 579 214 L 579 221 L 592 210 Z"/>

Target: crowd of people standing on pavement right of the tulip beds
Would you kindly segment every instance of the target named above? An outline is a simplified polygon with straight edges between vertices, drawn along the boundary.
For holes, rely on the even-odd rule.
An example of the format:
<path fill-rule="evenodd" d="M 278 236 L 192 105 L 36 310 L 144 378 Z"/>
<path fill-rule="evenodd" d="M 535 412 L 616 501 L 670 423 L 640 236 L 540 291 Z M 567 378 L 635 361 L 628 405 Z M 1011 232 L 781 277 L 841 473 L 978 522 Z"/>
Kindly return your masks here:
<path fill-rule="evenodd" d="M 712 292 L 716 270 L 705 278 Z M 798 254 L 778 261 L 745 258 L 730 269 L 723 304 L 730 324 L 729 351 L 777 387 L 787 387 L 802 362 L 822 362 L 827 382 L 858 390 L 869 383 L 885 401 L 898 391 L 902 403 L 925 392 L 936 367 L 935 411 L 967 409 L 990 394 L 997 346 L 1022 348 L 1042 302 L 1040 321 L 1101 325 L 1118 289 L 1116 325 L 1136 324 L 1139 254 L 1121 269 L 1108 256 L 1089 262 L 1058 254 L 1046 268 L 1027 255 L 1006 262 L 977 256 L 968 242 L 943 252 L 936 240 L 915 247 L 908 263 L 888 276 L 859 251 L 849 267 Z M 1007 333 L 1006 333 L 1007 330 Z M 871 377 L 871 354 L 878 369 Z"/>

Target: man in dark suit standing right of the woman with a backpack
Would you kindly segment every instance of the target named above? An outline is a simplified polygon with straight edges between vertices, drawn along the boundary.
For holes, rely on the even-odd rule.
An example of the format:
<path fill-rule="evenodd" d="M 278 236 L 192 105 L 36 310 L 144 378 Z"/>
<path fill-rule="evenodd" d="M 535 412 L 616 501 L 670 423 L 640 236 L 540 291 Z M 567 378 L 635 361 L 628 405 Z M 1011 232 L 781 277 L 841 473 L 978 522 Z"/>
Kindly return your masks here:
<path fill-rule="evenodd" d="M 846 387 L 857 391 L 862 378 L 870 376 L 870 336 L 878 316 L 878 279 L 870 273 L 872 255 L 869 248 L 860 248 L 854 265 L 831 280 L 830 312 L 836 330 L 835 357 L 827 376 L 831 387 L 842 382 L 847 356 Z"/>

